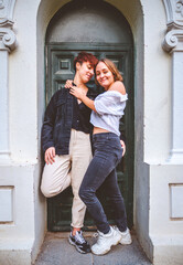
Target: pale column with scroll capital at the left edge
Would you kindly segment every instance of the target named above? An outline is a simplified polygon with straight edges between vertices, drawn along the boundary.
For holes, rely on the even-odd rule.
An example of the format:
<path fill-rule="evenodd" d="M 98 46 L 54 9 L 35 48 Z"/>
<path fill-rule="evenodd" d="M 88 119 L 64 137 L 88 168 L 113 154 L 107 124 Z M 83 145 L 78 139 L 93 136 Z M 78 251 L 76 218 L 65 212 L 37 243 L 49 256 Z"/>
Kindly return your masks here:
<path fill-rule="evenodd" d="M 15 0 L 0 0 L 0 163 L 10 161 L 9 53 L 15 47 L 11 20 Z"/>

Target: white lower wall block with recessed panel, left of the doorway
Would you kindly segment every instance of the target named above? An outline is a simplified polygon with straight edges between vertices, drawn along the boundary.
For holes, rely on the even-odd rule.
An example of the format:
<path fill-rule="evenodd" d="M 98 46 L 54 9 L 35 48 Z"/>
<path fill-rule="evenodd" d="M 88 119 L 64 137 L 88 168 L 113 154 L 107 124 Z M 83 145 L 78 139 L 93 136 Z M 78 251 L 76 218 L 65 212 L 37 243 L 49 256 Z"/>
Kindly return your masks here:
<path fill-rule="evenodd" d="M 39 163 L 0 165 L 0 265 L 31 265 L 46 231 Z"/>

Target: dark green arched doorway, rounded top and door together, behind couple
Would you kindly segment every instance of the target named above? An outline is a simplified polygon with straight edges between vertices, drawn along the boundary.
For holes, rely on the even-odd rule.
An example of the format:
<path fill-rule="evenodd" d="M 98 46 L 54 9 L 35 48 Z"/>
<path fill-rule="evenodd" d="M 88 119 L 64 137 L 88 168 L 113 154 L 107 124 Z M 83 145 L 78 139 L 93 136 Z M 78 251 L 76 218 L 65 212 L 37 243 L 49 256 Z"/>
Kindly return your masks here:
<path fill-rule="evenodd" d="M 65 81 L 73 78 L 73 60 L 79 51 L 87 51 L 98 59 L 112 60 L 122 73 L 129 100 L 120 129 L 127 137 L 127 153 L 118 166 L 118 181 L 125 198 L 128 225 L 133 220 L 133 42 L 130 26 L 123 15 L 103 1 L 79 0 L 64 6 L 51 20 L 45 40 L 46 104 L 51 96 L 62 89 Z M 94 88 L 94 80 L 88 84 Z M 98 191 L 108 219 L 112 223 L 112 209 Z M 66 231 L 71 224 L 72 190 L 67 189 L 47 200 L 49 230 Z M 85 229 L 93 229 L 86 214 Z"/>

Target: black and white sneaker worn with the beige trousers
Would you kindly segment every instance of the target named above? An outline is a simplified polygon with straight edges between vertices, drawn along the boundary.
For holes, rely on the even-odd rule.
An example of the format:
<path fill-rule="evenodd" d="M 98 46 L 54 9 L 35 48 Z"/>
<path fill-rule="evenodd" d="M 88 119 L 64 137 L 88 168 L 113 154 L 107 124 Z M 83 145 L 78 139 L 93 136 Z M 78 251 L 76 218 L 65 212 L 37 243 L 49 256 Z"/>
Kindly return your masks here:
<path fill-rule="evenodd" d="M 90 246 L 87 243 L 87 241 L 84 239 L 82 231 L 76 231 L 76 235 L 73 235 L 71 232 L 68 242 L 69 244 L 75 245 L 76 250 L 82 254 L 86 254 L 90 252 Z"/>

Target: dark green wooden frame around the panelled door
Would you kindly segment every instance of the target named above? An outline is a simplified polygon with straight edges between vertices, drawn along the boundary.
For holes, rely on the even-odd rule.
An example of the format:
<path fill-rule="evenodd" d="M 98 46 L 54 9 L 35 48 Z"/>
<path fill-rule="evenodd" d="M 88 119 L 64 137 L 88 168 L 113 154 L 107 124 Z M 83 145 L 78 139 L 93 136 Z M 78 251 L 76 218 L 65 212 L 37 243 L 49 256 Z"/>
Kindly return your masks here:
<path fill-rule="evenodd" d="M 84 47 L 84 49 L 80 49 Z M 126 61 L 125 63 L 128 64 L 128 61 L 130 61 L 130 65 L 131 67 L 127 67 L 127 65 L 125 65 L 125 70 L 126 70 L 126 74 L 125 74 L 125 85 L 126 85 L 126 81 L 128 81 L 128 94 L 129 99 L 128 102 L 130 102 L 130 108 L 128 108 L 128 104 L 127 104 L 127 108 L 128 108 L 128 116 L 130 116 L 130 120 L 132 120 L 132 129 L 130 130 L 130 134 L 128 134 L 128 137 L 126 139 L 126 146 L 127 146 L 127 155 L 129 156 L 130 159 L 126 159 L 126 167 L 128 168 L 128 178 L 126 181 L 126 189 L 122 190 L 122 195 L 126 199 L 126 209 L 127 209 L 127 218 L 128 218 L 128 226 L 131 227 L 133 225 L 133 179 L 134 179 L 134 96 L 133 96 L 133 46 L 132 43 L 131 45 L 128 43 L 71 43 L 71 42 L 65 42 L 65 43 L 46 43 L 45 45 L 45 72 L 46 72 L 46 89 L 45 89 L 45 98 L 46 98 L 46 104 L 50 100 L 51 95 L 47 98 L 49 95 L 49 87 L 52 86 L 51 82 L 52 82 L 52 67 L 49 67 L 49 65 L 52 63 L 52 57 L 51 54 L 52 52 L 56 52 L 56 51 L 86 51 L 86 52 L 92 52 L 94 53 L 94 55 L 97 55 L 97 53 L 100 53 L 101 51 L 105 53 L 106 52 L 111 52 L 116 51 L 116 52 L 123 52 L 126 53 Z M 95 51 L 95 52 L 94 52 Z M 130 68 L 132 70 L 130 72 Z M 53 94 L 54 92 L 52 92 Z M 127 114 L 126 114 L 127 115 Z M 128 118 L 128 117 L 126 117 Z M 131 165 L 132 161 L 132 165 Z M 130 188 L 130 191 L 129 191 Z M 47 200 L 47 224 L 49 224 L 49 230 L 50 231 L 66 231 L 68 230 L 68 227 L 66 229 L 60 229 L 56 224 L 54 225 L 54 229 L 50 225 L 50 222 L 54 222 L 54 220 L 52 219 L 52 216 L 50 216 L 50 212 L 52 212 L 51 209 L 51 201 L 52 199 Z M 88 226 L 87 226 L 88 227 Z M 86 230 L 87 230 L 86 227 Z"/>

